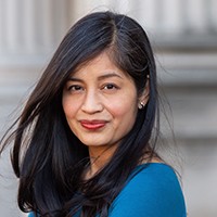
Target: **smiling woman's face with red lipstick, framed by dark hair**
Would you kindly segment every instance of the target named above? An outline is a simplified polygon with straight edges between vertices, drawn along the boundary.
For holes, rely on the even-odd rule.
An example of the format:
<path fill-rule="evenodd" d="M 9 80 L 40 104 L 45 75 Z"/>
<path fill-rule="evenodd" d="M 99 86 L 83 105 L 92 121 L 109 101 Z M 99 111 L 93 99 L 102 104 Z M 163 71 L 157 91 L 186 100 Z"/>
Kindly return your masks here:
<path fill-rule="evenodd" d="M 133 80 L 106 53 L 72 74 L 62 103 L 71 130 L 89 148 L 117 145 L 132 128 L 138 112 Z"/>

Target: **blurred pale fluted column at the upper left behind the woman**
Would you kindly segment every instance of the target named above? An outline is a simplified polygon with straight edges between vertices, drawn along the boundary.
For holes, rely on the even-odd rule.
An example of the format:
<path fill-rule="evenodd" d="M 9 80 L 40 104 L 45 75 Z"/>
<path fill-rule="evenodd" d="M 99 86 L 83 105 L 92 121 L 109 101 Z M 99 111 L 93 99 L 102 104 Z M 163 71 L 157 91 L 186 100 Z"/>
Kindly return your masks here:
<path fill-rule="evenodd" d="M 0 55 L 4 56 L 47 54 L 67 28 L 66 0 L 0 0 Z"/>

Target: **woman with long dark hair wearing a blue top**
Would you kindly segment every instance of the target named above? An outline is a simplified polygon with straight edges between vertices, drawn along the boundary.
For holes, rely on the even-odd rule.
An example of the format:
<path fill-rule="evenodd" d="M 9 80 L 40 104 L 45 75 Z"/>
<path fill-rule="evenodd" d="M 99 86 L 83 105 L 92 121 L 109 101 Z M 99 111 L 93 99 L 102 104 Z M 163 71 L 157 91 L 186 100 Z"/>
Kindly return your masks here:
<path fill-rule="evenodd" d="M 29 216 L 184 217 L 155 152 L 156 69 L 132 18 L 97 12 L 67 33 L 4 141 Z"/>

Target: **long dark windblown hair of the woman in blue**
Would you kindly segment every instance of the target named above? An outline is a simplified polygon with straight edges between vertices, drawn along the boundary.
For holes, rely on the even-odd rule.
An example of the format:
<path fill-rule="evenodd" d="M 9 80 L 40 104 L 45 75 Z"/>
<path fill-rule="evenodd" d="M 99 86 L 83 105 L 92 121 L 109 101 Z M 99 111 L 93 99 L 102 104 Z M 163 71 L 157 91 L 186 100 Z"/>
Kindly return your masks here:
<path fill-rule="evenodd" d="M 150 97 L 110 163 L 85 181 L 88 149 L 66 123 L 62 90 L 76 67 L 103 51 L 132 77 L 138 95 L 149 77 Z M 12 165 L 20 178 L 20 208 L 51 217 L 73 216 L 77 210 L 82 210 L 84 217 L 107 216 L 111 203 L 145 151 L 150 151 L 150 159 L 155 153 L 155 142 L 151 139 L 157 119 L 155 61 L 142 27 L 132 18 L 112 12 L 82 17 L 54 53 L 17 119 L 17 128 L 1 141 L 3 148 L 14 141 Z"/>

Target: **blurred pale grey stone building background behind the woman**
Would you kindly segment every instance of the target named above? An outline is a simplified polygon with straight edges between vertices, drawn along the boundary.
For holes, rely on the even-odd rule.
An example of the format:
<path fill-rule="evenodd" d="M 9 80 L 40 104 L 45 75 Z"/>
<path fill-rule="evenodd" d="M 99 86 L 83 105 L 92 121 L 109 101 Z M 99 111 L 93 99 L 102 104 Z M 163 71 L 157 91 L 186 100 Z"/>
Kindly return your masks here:
<path fill-rule="evenodd" d="M 216 217 L 217 0 L 0 0 L 0 136 L 67 29 L 100 10 L 130 15 L 146 30 L 173 110 L 189 216 Z M 169 130 L 165 135 L 169 141 Z M 7 151 L 0 158 L 0 216 L 24 216 L 16 190 Z"/>

